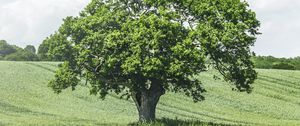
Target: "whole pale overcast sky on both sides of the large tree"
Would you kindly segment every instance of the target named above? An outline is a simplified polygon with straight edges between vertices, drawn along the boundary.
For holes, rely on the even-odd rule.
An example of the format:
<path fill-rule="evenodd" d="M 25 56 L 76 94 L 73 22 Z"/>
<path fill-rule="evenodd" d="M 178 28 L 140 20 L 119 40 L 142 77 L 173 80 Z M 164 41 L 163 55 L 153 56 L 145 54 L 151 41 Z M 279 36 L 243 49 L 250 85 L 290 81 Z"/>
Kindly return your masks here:
<path fill-rule="evenodd" d="M 300 56 L 300 0 L 247 0 L 261 21 L 258 55 Z M 0 40 L 36 47 L 89 0 L 0 0 Z"/>

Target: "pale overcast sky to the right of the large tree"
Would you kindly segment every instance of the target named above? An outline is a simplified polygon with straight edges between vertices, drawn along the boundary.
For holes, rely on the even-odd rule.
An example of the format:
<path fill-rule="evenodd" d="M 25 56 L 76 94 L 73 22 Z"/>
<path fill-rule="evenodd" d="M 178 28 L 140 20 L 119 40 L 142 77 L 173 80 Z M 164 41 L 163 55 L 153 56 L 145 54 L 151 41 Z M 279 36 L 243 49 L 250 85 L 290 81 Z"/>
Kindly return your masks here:
<path fill-rule="evenodd" d="M 300 1 L 248 0 L 261 21 L 262 35 L 253 50 L 259 55 L 300 56 Z"/>

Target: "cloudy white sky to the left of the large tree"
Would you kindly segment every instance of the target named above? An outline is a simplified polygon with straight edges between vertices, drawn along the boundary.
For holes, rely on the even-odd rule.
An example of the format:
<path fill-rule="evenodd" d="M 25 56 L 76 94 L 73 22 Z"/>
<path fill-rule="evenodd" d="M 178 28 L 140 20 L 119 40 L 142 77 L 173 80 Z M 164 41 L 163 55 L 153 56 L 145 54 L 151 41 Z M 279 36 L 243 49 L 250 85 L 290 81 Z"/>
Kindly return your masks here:
<path fill-rule="evenodd" d="M 38 46 L 66 16 L 77 15 L 89 0 L 0 0 L 0 39 Z"/>

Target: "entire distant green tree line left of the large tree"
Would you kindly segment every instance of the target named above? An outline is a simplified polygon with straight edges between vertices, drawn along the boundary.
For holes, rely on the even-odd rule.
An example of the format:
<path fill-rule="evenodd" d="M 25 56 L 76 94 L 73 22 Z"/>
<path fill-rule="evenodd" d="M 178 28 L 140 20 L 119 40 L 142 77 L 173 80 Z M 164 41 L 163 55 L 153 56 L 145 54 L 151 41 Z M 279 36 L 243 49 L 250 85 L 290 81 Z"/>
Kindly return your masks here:
<path fill-rule="evenodd" d="M 35 49 L 33 45 L 27 45 L 24 49 L 16 45 L 10 45 L 5 40 L 0 40 L 0 60 L 6 61 L 65 61 L 74 53 L 70 41 L 61 34 L 53 34 L 47 37 L 42 44 Z"/>

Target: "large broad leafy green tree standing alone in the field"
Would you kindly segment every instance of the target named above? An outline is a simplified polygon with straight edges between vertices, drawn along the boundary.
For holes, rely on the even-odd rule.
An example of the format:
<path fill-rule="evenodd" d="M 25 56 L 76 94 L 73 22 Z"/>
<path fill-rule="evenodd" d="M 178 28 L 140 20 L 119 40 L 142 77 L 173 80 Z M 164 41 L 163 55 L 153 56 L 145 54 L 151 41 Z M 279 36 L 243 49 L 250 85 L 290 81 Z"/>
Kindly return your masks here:
<path fill-rule="evenodd" d="M 74 90 L 85 78 L 91 94 L 131 97 L 140 121 L 152 121 L 166 91 L 203 100 L 195 76 L 210 66 L 251 92 L 258 27 L 240 0 L 92 0 L 80 16 L 64 19 L 58 34 L 73 53 L 49 86 Z"/>

